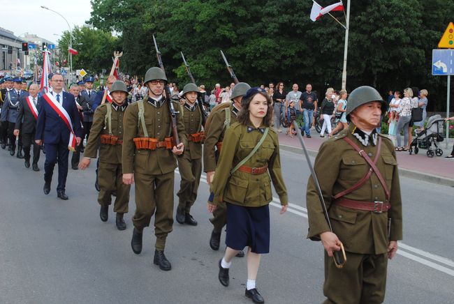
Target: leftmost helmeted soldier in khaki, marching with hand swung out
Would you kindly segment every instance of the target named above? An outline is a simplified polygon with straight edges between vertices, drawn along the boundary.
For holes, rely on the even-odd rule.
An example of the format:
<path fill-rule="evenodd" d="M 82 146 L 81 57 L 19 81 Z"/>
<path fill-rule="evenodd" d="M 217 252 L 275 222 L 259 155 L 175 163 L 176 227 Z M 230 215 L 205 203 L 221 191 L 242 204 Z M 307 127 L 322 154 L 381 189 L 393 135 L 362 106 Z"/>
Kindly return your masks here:
<path fill-rule="evenodd" d="M 126 96 L 128 91 L 122 81 L 112 84 L 110 91 L 112 103 L 105 102 L 96 108 L 93 125 L 90 129 L 87 146 L 85 147 L 84 159 L 79 167 L 85 170 L 90 164 L 90 158 L 96 158 L 98 143 L 99 171 L 98 185 L 101 189 L 98 194 L 98 203 L 101 205 L 99 217 L 103 222 L 108 220 L 109 205 L 112 202 L 112 192 L 116 190 L 114 212 L 117 213 L 115 223 L 117 229 L 126 229 L 123 215 L 128 212 L 129 190 L 131 185 L 123 183 L 122 172 L 122 144 L 123 144 L 123 117 L 128 104 Z"/>

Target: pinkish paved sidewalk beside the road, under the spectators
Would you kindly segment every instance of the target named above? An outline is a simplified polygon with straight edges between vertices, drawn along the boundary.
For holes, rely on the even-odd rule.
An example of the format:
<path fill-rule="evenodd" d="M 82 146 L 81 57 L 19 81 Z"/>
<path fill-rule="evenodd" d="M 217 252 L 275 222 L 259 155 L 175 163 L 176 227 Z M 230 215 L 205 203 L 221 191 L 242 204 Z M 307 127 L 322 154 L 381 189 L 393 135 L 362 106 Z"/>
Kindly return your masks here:
<path fill-rule="evenodd" d="M 311 130 L 311 135 L 311 138 L 304 137 L 304 141 L 309 153 L 315 156 L 321 144 L 328 139 L 320 137 L 316 130 Z M 448 149 L 445 142 L 437 143 L 444 153 L 442 156 L 434 155 L 433 158 L 427 157 L 426 149 L 420 149 L 418 155 L 396 152 L 400 175 L 454 187 L 454 159 L 444 158 L 451 153 L 453 143 L 454 139 L 449 139 Z M 279 145 L 284 150 L 302 152 L 298 137 L 291 138 L 285 131 L 279 133 Z"/>

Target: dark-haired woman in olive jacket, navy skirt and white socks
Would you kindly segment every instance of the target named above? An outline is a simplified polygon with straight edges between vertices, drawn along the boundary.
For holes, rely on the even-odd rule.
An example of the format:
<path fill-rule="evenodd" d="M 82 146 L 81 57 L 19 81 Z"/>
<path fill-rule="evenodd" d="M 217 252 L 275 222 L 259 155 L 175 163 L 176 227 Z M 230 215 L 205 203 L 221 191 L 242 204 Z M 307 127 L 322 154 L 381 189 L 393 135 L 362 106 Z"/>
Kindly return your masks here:
<path fill-rule="evenodd" d="M 281 214 L 288 204 L 287 190 L 281 174 L 279 143 L 272 124 L 272 100 L 256 88 L 242 98 L 242 110 L 224 137 L 223 149 L 214 174 L 211 190 L 227 206 L 226 253 L 219 261 L 219 281 L 229 284 L 231 260 L 248 246 L 247 288 L 245 295 L 254 303 L 263 303 L 256 289 L 261 254 L 270 251 L 271 179 L 281 200 Z M 269 172 L 269 174 L 268 174 Z"/>

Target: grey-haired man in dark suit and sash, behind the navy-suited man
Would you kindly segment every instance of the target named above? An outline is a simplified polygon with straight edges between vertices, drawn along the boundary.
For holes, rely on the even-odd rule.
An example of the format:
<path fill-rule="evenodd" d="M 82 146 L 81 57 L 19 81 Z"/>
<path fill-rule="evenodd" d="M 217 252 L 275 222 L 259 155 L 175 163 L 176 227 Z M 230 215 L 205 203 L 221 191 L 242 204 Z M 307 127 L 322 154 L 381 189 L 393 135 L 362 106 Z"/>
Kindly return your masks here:
<path fill-rule="evenodd" d="M 20 109 L 17 115 L 14 135 L 22 135 L 22 147 L 24 149 L 24 165 L 30 167 L 30 147 L 33 144 L 33 171 L 39 171 L 38 160 L 40 146 L 35 142 L 36 119 L 38 119 L 38 84 L 31 84 L 29 96 L 20 98 Z M 22 129 L 21 129 L 22 128 Z"/>

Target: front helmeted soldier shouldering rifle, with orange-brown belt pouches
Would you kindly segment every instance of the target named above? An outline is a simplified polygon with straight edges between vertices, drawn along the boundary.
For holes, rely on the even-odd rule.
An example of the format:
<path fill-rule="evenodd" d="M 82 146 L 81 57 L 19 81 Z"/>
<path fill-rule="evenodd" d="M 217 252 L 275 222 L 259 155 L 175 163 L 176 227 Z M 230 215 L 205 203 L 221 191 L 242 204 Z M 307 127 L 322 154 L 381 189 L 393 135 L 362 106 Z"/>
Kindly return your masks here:
<path fill-rule="evenodd" d="M 123 182 L 136 183 L 136 213 L 133 216 L 131 248 L 142 251 L 142 231 L 149 226 L 154 214 L 156 250 L 154 264 L 170 271 L 164 255 L 167 235 L 173 226 L 173 183 L 177 158 L 187 146 L 181 113 L 176 114 L 180 144 L 173 142 L 170 109 L 163 96 L 166 74 L 160 68 L 149 68 L 145 74 L 148 96 L 133 102 L 124 116 Z M 172 101 L 173 102 L 173 101 Z M 173 102 L 173 107 L 180 105 Z"/>

